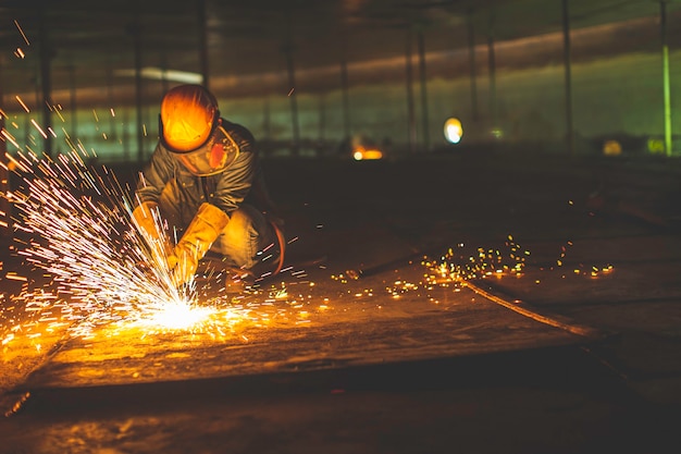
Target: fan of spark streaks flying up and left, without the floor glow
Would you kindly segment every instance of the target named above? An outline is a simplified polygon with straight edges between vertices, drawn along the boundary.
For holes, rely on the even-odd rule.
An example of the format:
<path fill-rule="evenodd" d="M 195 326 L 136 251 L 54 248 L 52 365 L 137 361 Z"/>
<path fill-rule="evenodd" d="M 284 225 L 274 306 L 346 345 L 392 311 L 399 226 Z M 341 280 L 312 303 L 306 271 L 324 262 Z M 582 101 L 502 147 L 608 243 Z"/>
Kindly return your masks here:
<path fill-rule="evenodd" d="M 23 152 L 8 158 L 21 177 L 7 194 L 18 212 L 16 236 L 28 237 L 17 254 L 52 278 L 57 295 L 67 295 L 62 317 L 88 330 L 122 319 L 164 322 L 161 314 L 182 307 L 187 326 L 196 285 L 174 287 L 164 257 L 131 223 L 129 189 L 111 171 L 98 173 L 75 149 L 54 160 Z"/>

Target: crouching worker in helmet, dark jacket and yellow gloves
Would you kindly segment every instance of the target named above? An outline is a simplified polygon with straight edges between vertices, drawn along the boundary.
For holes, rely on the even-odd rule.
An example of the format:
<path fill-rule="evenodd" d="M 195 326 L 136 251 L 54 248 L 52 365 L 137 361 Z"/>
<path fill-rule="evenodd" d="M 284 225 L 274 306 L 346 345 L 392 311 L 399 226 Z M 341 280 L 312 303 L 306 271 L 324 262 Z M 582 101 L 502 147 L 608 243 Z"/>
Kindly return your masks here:
<path fill-rule="evenodd" d="M 159 130 L 133 220 L 152 249 L 162 250 L 173 283 L 189 281 L 209 250 L 243 275 L 278 272 L 285 241 L 271 217 L 251 133 L 221 118 L 215 97 L 200 85 L 164 95 Z"/>

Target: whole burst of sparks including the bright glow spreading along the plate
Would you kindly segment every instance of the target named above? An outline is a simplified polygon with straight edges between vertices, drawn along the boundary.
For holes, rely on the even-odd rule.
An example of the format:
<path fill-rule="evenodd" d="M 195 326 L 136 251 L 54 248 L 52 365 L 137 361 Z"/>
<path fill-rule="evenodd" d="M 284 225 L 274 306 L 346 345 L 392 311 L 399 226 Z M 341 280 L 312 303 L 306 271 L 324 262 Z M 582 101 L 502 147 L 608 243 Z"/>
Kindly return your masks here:
<path fill-rule="evenodd" d="M 122 187 L 110 169 L 89 164 L 95 156 L 85 147 L 71 147 L 54 159 L 30 150 L 7 158 L 7 170 L 18 181 L 16 189 L 5 194 L 15 210 L 15 250 L 34 272 L 5 273 L 22 292 L 2 294 L 0 345 L 28 339 L 40 352 L 49 345 L 46 339 L 53 342 L 59 332 L 89 339 L 102 326 L 114 333 L 141 329 L 143 335 L 184 331 L 222 339 L 242 327 L 269 327 L 273 320 L 309 323 L 309 303 L 301 305 L 283 283 L 270 291 L 258 287 L 238 296 L 226 292 L 209 297 L 224 292 L 232 279 L 209 268 L 205 279 L 191 278 L 176 289 L 165 249 L 133 224 L 134 191 Z M 173 238 L 160 217 L 154 216 L 154 222 Z M 36 269 L 49 282 L 36 282 Z M 300 271 L 289 271 L 299 278 Z"/>

